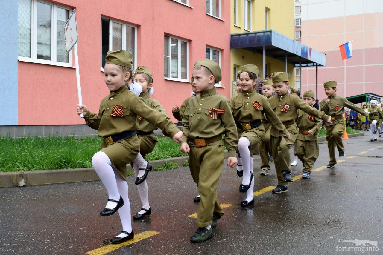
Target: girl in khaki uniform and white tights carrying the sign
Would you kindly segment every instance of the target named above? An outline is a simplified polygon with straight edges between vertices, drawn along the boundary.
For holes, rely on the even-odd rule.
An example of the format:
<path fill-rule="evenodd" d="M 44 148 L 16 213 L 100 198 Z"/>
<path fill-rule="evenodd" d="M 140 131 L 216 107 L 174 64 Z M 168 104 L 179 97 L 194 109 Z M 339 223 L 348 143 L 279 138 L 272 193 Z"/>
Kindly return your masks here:
<path fill-rule="evenodd" d="M 126 82 L 131 75 L 132 64 L 128 51 L 109 51 L 104 79 L 110 94 L 101 100 L 97 114 L 84 105 L 77 105 L 77 114 L 83 113 L 85 123 L 98 130 L 98 136 L 104 138 L 100 151 L 93 155 L 92 164 L 108 192 L 108 203 L 100 215 L 112 215 L 118 210 L 123 226 L 121 234 L 111 239 L 114 244 L 134 237 L 126 164 L 133 162 L 140 149 L 140 138 L 136 135 L 138 116 L 166 130 L 176 142 L 181 142 L 183 137 L 166 114 L 153 109 L 144 99 L 128 90 Z"/>

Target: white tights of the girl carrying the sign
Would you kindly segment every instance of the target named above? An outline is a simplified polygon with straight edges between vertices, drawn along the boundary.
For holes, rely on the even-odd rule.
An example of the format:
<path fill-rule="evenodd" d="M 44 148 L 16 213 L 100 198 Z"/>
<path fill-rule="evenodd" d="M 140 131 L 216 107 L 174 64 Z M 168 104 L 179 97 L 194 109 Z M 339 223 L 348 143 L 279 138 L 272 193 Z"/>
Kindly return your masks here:
<path fill-rule="evenodd" d="M 110 162 L 108 156 L 102 151 L 98 151 L 93 155 L 92 158 L 93 167 L 100 177 L 101 182 L 104 184 L 106 191 L 108 192 L 108 197 L 110 199 L 118 201 L 120 197 L 124 200 L 124 205 L 118 209 L 118 214 L 121 219 L 122 228 L 124 231 L 131 233 L 132 232 L 132 222 L 130 218 L 130 202 L 128 197 L 128 183 L 124 178 L 119 174 L 115 167 Z M 108 201 L 108 203 L 111 201 Z M 114 208 L 117 203 L 112 202 L 113 204 L 109 205 L 110 209 Z M 107 204 L 108 206 L 108 204 Z M 108 208 L 108 207 L 106 207 Z M 121 233 L 118 237 L 126 237 L 127 235 Z"/>

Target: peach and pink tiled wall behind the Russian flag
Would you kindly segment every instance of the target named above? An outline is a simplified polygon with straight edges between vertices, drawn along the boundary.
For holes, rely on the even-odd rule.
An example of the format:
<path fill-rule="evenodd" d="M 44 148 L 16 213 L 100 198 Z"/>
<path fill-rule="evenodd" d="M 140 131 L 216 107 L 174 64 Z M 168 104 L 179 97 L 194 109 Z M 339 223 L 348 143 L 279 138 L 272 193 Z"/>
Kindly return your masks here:
<path fill-rule="evenodd" d="M 352 58 L 342 60 L 337 47 L 327 54 L 326 67 L 318 68 L 318 99 L 326 97 L 326 80 L 337 81 L 340 96 L 383 95 L 383 12 L 302 20 L 301 42 L 324 54 L 351 40 Z M 302 68 L 302 91 L 315 91 L 315 78 L 315 68 Z"/>

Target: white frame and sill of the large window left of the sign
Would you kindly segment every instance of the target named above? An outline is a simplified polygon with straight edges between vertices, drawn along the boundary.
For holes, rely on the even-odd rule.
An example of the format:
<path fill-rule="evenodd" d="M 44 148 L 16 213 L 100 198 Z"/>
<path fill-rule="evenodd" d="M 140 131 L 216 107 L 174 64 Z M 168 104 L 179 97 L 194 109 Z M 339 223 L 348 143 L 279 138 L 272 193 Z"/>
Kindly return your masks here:
<path fill-rule="evenodd" d="M 51 9 L 51 59 L 52 60 L 37 58 L 37 2 L 52 6 L 52 9 Z M 44 0 L 31 0 L 31 41 L 30 41 L 31 55 L 30 57 L 23 57 L 18 55 L 17 59 L 19 61 L 75 68 L 73 66 L 72 52 L 68 54 L 69 63 L 57 61 L 57 8 L 68 10 L 69 16 L 73 11 L 72 8 L 62 6 L 62 5 L 57 5 L 56 3 L 47 2 Z"/>

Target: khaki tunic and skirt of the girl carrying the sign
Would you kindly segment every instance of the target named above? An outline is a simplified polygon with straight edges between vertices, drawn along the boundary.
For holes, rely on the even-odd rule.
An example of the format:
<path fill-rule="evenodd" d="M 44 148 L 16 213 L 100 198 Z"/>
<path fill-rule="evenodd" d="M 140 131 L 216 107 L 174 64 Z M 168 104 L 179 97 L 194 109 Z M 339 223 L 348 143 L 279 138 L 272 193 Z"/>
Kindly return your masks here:
<path fill-rule="evenodd" d="M 110 114 L 113 106 L 122 106 L 123 117 L 114 117 Z M 85 123 L 98 130 L 98 136 L 106 138 L 117 135 L 124 131 L 133 131 L 139 128 L 139 117 L 154 123 L 173 137 L 180 130 L 172 123 L 169 116 L 153 109 L 146 104 L 144 99 L 131 93 L 126 86 L 122 86 L 116 91 L 101 100 L 98 114 L 93 114 L 88 110 L 84 115 Z M 91 122 L 90 120 L 93 120 Z M 134 135 L 126 140 L 115 141 L 110 145 L 102 143 L 100 150 L 108 155 L 111 163 L 116 167 L 121 176 L 126 180 L 126 164 L 133 162 L 140 149 L 140 139 Z"/>

